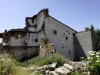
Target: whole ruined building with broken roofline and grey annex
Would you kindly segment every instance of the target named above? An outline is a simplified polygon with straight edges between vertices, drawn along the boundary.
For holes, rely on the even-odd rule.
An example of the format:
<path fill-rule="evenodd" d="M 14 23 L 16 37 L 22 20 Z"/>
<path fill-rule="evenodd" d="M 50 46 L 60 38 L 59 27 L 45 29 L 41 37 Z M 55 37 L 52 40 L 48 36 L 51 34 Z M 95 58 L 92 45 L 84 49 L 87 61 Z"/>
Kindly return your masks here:
<path fill-rule="evenodd" d="M 77 32 L 61 23 L 49 15 L 48 9 L 26 17 L 25 22 L 23 29 L 5 30 L 3 33 L 4 49 L 18 59 L 38 55 L 43 37 L 53 44 L 56 52 L 71 60 L 87 57 L 88 51 L 95 50 L 100 40 L 94 32 Z"/>

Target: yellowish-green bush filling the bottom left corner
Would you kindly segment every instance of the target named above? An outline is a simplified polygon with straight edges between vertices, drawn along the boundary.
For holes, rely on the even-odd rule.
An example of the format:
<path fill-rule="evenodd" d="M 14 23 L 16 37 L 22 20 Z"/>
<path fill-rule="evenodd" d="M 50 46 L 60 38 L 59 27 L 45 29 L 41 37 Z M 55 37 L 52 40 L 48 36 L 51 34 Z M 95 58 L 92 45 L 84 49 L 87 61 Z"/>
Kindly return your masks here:
<path fill-rule="evenodd" d="M 20 63 L 21 64 L 21 63 Z M 19 66 L 19 62 L 8 54 L 0 55 L 0 75 L 30 75 Z"/>

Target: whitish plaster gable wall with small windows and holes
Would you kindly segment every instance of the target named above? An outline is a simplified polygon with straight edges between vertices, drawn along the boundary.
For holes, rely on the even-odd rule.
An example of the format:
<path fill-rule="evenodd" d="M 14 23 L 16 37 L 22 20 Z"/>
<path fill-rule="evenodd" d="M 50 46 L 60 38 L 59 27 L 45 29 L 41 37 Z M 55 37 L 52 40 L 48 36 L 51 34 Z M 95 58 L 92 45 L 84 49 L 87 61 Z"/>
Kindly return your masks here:
<path fill-rule="evenodd" d="M 49 16 L 45 19 L 45 33 L 57 52 L 69 59 L 74 59 L 73 33 L 76 31 Z"/>

